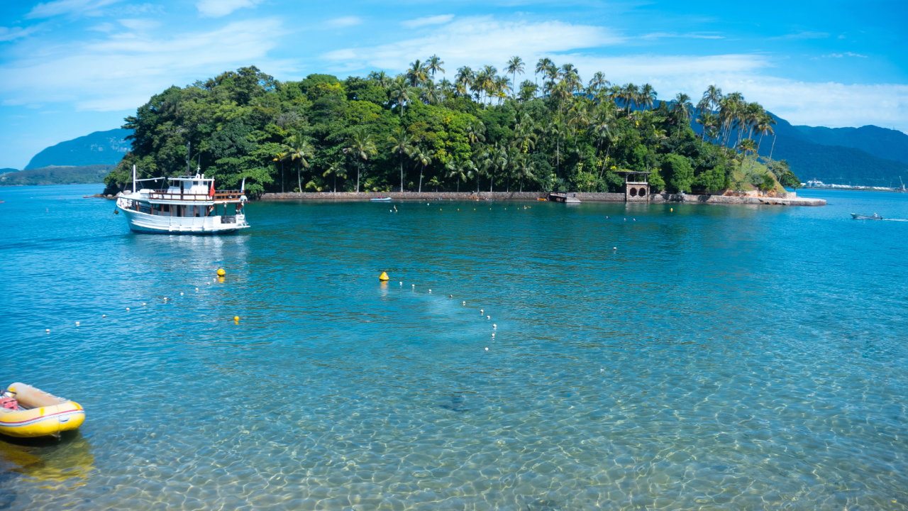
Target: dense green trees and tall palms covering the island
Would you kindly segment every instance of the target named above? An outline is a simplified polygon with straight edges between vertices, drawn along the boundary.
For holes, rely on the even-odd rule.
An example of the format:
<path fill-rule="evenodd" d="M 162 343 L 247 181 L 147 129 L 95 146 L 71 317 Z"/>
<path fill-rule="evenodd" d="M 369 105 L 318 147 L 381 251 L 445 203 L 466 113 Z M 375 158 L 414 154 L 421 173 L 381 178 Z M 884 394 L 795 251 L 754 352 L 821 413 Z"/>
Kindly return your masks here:
<path fill-rule="evenodd" d="M 657 190 L 768 189 L 799 181 L 784 162 L 748 165 L 772 131 L 762 107 L 711 88 L 705 135 L 691 129 L 687 95 L 656 101 L 650 85 L 582 84 L 570 64 L 512 58 L 437 78 L 444 62 L 406 74 L 280 82 L 243 67 L 173 86 L 126 118 L 133 150 L 107 176 L 107 193 L 141 177 L 201 166 L 219 187 L 249 192 L 392 190 L 618 191 L 622 170 L 649 171 Z M 518 75 L 535 70 L 542 86 Z M 714 109 L 716 114 L 714 114 Z M 753 135 L 753 136 L 752 136 Z M 187 148 L 187 144 L 189 147 Z M 729 148 L 731 146 L 731 148 Z M 187 153 L 189 151 L 189 153 Z M 750 158 L 753 160 L 753 157 Z M 775 174 L 775 177 L 774 177 Z M 770 181 L 773 185 L 769 185 Z"/>

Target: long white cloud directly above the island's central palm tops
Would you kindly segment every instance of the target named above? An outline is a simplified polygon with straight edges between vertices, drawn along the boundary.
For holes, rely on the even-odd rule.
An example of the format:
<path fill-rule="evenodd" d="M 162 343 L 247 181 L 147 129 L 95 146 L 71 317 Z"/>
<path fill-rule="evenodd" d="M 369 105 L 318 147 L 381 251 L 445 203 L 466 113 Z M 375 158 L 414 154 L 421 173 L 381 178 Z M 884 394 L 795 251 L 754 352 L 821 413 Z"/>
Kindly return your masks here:
<path fill-rule="evenodd" d="M 322 56 L 341 70 L 378 67 L 402 71 L 414 58 L 437 54 L 454 69 L 459 65 L 504 65 L 512 55 L 532 62 L 540 55 L 614 45 L 622 40 L 601 26 L 502 22 L 483 16 L 459 18 L 429 35 L 390 45 L 343 48 Z"/>

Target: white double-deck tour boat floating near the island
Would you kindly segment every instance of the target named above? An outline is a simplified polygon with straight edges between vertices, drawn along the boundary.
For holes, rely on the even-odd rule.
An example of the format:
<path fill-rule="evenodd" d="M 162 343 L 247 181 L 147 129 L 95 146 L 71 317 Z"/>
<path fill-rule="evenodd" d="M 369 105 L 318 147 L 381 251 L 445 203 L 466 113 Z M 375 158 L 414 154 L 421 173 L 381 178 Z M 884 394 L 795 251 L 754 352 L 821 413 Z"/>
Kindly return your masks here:
<path fill-rule="evenodd" d="M 170 186 L 136 190 L 143 181 L 170 181 Z M 116 205 L 136 233 L 227 234 L 248 228 L 243 206 L 249 200 L 240 190 L 215 190 L 214 179 L 204 174 L 135 179 L 133 191 L 117 195 Z"/>

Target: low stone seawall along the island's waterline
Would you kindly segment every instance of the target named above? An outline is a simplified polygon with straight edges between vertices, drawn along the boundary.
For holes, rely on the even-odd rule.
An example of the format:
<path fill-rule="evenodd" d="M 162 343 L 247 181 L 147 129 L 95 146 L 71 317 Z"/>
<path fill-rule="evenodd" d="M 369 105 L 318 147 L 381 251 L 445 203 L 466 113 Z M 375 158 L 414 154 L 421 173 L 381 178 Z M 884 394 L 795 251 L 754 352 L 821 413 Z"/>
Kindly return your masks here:
<path fill-rule="evenodd" d="M 581 202 L 625 202 L 624 194 L 614 193 L 593 193 L 577 192 L 570 195 L 577 195 Z M 517 200 L 517 201 L 538 201 L 548 196 L 546 192 L 362 192 L 356 194 L 353 192 L 306 192 L 284 194 L 264 194 L 259 197 L 262 201 L 299 201 L 299 200 L 321 200 L 321 201 L 368 201 L 373 197 L 391 197 L 397 200 Z M 649 202 L 666 203 L 678 202 L 686 204 L 754 204 L 754 205 L 826 205 L 823 199 L 809 199 L 803 197 L 758 197 L 758 196 L 734 196 L 734 195 L 680 195 L 680 194 L 653 194 L 649 197 Z M 636 201 L 632 204 L 643 204 L 643 201 Z"/>

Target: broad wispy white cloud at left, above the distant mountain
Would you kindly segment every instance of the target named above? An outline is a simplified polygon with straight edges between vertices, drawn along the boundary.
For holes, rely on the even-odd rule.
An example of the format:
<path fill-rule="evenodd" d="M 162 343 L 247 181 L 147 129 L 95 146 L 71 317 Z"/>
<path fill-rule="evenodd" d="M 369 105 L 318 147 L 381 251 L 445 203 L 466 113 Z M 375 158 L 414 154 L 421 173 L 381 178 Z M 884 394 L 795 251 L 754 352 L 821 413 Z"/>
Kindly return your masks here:
<path fill-rule="evenodd" d="M 0 66 L 0 97 L 3 105 L 64 101 L 78 110 L 133 109 L 169 85 L 241 65 L 292 71 L 295 63 L 267 55 L 286 34 L 280 18 L 271 17 L 172 37 L 117 33 L 87 44 L 40 47 Z"/>

